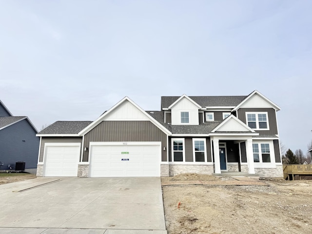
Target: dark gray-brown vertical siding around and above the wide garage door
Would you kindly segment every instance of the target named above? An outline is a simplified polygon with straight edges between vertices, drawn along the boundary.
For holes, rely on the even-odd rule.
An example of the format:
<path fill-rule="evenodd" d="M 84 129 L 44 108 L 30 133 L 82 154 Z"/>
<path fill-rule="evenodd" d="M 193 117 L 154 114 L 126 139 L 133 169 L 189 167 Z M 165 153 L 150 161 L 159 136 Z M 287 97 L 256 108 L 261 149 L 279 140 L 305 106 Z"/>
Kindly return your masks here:
<path fill-rule="evenodd" d="M 83 147 L 90 142 L 110 141 L 161 141 L 167 147 L 167 135 L 150 121 L 102 121 L 84 136 Z M 88 161 L 89 151 L 83 151 L 83 162 Z M 161 151 L 161 161 L 167 161 L 167 152 Z"/>

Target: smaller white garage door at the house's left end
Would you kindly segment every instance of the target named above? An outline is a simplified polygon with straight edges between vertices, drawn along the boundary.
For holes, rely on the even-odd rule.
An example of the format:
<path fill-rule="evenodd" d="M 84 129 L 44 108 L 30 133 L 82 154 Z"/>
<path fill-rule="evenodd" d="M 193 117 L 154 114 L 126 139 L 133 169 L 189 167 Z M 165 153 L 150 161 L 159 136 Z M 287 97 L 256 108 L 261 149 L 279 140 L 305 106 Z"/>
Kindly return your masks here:
<path fill-rule="evenodd" d="M 77 176 L 80 145 L 48 145 L 44 151 L 44 176 Z"/>

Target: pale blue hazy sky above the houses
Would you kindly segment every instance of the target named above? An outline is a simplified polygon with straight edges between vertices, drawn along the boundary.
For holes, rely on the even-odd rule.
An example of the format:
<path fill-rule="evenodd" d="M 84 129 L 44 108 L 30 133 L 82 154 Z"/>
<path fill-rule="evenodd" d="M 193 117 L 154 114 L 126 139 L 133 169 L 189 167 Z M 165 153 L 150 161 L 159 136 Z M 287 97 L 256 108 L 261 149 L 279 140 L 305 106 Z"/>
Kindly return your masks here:
<path fill-rule="evenodd" d="M 311 0 L 0 0 L 0 100 L 40 131 L 128 96 L 272 100 L 280 141 L 312 141 Z"/>

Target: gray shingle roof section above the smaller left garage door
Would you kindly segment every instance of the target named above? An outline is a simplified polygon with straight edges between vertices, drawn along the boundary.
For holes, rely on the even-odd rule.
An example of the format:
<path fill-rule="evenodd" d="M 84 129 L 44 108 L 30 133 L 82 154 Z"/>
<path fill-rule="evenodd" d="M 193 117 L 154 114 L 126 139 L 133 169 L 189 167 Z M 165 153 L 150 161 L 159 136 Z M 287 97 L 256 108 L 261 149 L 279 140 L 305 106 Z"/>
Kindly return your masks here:
<path fill-rule="evenodd" d="M 78 134 L 92 121 L 57 121 L 38 134 Z"/>

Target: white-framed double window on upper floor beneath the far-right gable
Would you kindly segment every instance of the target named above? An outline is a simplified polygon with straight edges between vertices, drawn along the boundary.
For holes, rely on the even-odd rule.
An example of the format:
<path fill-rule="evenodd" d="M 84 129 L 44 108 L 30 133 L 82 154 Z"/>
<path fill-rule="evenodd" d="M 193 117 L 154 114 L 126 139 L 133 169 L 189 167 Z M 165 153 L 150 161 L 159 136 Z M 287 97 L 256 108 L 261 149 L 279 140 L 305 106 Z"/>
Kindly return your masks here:
<path fill-rule="evenodd" d="M 246 112 L 247 125 L 255 130 L 269 130 L 267 112 Z"/>

